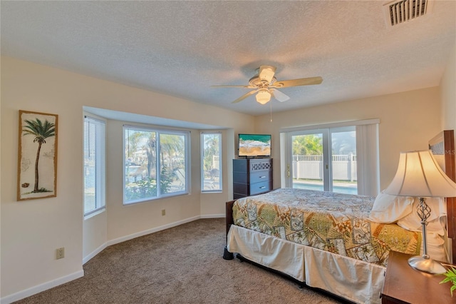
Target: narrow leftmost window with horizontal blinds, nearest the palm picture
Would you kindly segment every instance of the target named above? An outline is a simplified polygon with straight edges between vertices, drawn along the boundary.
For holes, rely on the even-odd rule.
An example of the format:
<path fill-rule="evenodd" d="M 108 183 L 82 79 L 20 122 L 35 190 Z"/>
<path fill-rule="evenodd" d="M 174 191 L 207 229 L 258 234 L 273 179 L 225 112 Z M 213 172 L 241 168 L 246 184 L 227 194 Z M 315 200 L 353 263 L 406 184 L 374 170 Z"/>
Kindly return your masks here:
<path fill-rule="evenodd" d="M 84 116 L 84 216 L 105 208 L 105 122 Z"/>

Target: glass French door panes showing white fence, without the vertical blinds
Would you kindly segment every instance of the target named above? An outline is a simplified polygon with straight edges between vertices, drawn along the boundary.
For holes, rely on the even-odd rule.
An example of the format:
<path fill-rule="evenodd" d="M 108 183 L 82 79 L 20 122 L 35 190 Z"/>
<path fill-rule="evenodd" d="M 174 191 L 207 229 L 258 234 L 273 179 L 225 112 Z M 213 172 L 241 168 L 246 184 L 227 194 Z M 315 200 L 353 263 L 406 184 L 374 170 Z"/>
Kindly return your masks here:
<path fill-rule="evenodd" d="M 287 141 L 287 187 L 358 193 L 355 126 L 293 131 Z"/>

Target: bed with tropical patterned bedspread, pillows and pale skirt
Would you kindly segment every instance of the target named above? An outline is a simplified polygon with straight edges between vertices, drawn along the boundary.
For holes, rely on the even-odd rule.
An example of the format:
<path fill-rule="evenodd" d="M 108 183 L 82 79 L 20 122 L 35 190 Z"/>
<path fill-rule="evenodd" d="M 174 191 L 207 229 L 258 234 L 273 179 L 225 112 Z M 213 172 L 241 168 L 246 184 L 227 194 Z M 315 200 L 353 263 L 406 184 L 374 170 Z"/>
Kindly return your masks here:
<path fill-rule="evenodd" d="M 453 138 L 452 131 L 444 131 L 432 138 L 430 148 L 435 154 L 442 151 L 442 166 L 447 174 L 453 171 L 454 180 Z M 422 250 L 413 200 L 385 193 L 371 197 L 280 188 L 229 201 L 224 258 L 237 253 L 300 285 L 353 303 L 380 303 L 389 251 L 419 255 Z M 384 212 L 385 202 L 394 206 L 393 212 Z M 451 261 L 453 201 L 427 202 L 435 213 L 427 226 L 428 253 L 435 260 Z M 401 206 L 408 209 L 397 209 Z M 385 219 L 385 214 L 393 218 Z"/>

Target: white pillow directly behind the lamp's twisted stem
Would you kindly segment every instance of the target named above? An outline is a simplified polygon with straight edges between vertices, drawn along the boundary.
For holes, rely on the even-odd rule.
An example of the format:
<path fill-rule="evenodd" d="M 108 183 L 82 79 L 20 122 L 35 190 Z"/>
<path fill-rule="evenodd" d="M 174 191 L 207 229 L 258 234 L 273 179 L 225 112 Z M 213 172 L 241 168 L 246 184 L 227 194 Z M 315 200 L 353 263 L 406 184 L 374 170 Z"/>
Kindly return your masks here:
<path fill-rule="evenodd" d="M 415 198 L 413 211 L 407 216 L 400 218 L 398 225 L 410 231 L 422 230 L 421 218 L 418 216 L 418 204 L 420 198 Z M 427 206 L 430 207 L 430 216 L 427 218 L 426 231 L 445 235 L 445 222 L 447 216 L 447 206 L 445 198 L 426 198 Z"/>

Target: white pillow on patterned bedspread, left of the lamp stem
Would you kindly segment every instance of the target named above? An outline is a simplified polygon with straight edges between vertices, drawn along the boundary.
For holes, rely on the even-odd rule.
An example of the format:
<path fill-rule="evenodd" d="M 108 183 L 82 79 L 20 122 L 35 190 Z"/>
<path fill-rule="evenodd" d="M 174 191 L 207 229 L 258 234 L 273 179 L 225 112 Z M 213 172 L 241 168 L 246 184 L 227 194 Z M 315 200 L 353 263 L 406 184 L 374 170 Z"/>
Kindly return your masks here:
<path fill-rule="evenodd" d="M 369 220 L 376 223 L 395 223 L 412 212 L 413 201 L 411 196 L 392 196 L 382 191 L 375 198 Z"/>

